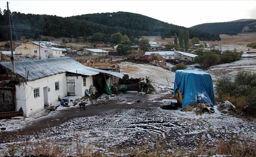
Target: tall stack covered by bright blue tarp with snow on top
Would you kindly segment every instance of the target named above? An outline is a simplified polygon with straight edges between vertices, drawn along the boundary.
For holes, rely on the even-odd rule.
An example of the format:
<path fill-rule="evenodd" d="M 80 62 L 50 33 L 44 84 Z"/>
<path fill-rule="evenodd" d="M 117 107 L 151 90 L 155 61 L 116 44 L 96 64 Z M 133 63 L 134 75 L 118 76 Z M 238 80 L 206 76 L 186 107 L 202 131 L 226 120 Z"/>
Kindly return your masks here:
<path fill-rule="evenodd" d="M 201 96 L 201 102 L 214 106 L 214 88 L 212 77 L 202 69 L 187 68 L 176 70 L 174 81 L 174 95 L 179 89 L 183 96 L 182 109 L 197 102 L 197 95 Z"/>

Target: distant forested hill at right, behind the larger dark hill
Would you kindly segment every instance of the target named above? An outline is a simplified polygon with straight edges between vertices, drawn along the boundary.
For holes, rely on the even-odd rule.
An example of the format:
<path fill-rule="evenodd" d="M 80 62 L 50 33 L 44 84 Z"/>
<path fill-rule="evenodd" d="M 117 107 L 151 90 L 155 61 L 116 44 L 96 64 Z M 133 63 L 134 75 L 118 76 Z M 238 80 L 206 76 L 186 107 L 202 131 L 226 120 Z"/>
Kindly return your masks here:
<path fill-rule="evenodd" d="M 236 35 L 238 33 L 256 32 L 256 20 L 243 19 L 234 22 L 207 23 L 196 25 L 191 28 L 198 31 L 213 33 L 216 35 Z"/>

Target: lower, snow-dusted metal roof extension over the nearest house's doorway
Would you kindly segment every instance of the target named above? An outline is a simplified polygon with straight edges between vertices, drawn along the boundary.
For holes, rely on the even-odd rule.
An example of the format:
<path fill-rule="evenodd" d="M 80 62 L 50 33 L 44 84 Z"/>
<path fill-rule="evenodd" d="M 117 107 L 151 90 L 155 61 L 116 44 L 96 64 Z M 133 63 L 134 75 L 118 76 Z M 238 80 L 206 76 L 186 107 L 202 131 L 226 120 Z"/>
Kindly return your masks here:
<path fill-rule="evenodd" d="M 102 70 L 102 69 L 96 69 L 96 68 L 90 68 L 90 67 L 72 69 L 72 70 L 68 70 L 68 72 L 78 73 L 78 74 L 81 74 L 81 75 L 88 75 L 88 76 L 97 75 L 99 73 L 105 73 L 105 74 L 113 75 L 115 77 L 119 77 L 121 79 L 124 76 L 124 74 L 122 74 L 122 73 L 117 73 L 117 72 L 107 71 L 107 70 Z"/>

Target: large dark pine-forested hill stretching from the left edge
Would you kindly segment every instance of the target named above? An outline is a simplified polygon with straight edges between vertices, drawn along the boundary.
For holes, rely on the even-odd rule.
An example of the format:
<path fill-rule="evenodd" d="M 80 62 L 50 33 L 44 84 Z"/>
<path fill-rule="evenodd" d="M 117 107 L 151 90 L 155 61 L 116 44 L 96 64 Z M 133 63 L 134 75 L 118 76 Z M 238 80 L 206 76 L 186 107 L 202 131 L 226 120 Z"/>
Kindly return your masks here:
<path fill-rule="evenodd" d="M 114 33 L 120 32 L 128 37 L 141 36 L 174 36 L 179 30 L 188 30 L 189 38 L 200 40 L 221 40 L 219 35 L 161 22 L 147 16 L 117 12 L 96 13 L 62 18 L 52 15 L 34 15 L 11 12 L 11 26 L 15 33 L 13 38 L 36 38 L 39 35 L 53 37 L 89 38 L 95 33 L 102 33 L 104 40 L 109 40 Z M 0 12 L 0 40 L 9 40 L 8 13 Z"/>

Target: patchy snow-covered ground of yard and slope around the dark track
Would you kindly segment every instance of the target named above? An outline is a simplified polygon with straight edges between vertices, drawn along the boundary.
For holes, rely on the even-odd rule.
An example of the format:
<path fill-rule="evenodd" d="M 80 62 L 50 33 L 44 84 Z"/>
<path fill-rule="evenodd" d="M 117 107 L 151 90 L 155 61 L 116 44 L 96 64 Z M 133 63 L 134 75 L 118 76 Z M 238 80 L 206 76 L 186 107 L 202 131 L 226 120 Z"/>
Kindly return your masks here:
<path fill-rule="evenodd" d="M 161 67 L 130 62 L 122 62 L 119 66 L 120 72 L 128 74 L 130 78 L 149 77 L 156 89 L 156 93 L 154 93 L 156 95 L 169 94 L 174 86 L 175 73 Z M 126 68 L 133 69 L 133 71 L 126 71 Z M 244 58 L 231 64 L 214 66 L 207 72 L 214 79 L 218 79 L 223 74 L 230 73 L 230 75 L 234 75 L 233 71 L 239 70 L 237 68 L 256 70 L 256 59 Z M 130 97 L 139 94 L 144 93 L 127 93 Z M 152 97 L 154 97 L 154 94 Z M 148 99 L 152 100 L 152 97 Z M 43 118 L 42 115 L 48 117 L 62 110 L 74 109 L 75 111 L 79 108 L 78 105 L 74 104 L 75 102 L 86 102 L 86 105 L 95 103 L 80 97 L 67 98 L 73 100 L 69 102 L 69 108 L 59 106 L 59 102 L 56 101 L 52 105 L 59 106 L 56 110 L 58 112 L 49 113 L 49 111 L 43 110 L 30 118 L 2 119 L 0 120 L 0 128 L 5 128 L 2 131 L 22 131 L 27 125 Z M 122 100 L 121 103 L 131 103 L 122 95 L 116 97 L 102 95 L 97 100 L 101 102 Z M 22 143 L 24 139 L 35 143 L 47 140 L 55 141 L 63 147 L 62 153 L 67 156 L 77 155 L 78 141 L 79 146 L 90 147 L 91 150 L 101 152 L 107 156 L 113 155 L 116 150 L 118 150 L 119 155 L 125 156 L 127 150 L 140 150 L 142 147 L 150 152 L 150 150 L 156 150 L 159 145 L 165 146 L 165 152 L 190 153 L 204 148 L 205 152 L 210 153 L 210 151 L 216 149 L 218 142 L 230 140 L 235 140 L 240 144 L 254 144 L 255 146 L 255 120 L 220 117 L 226 113 L 219 111 L 218 106 L 214 106 L 214 113 L 197 115 L 194 111 L 182 112 L 179 110 L 180 108 L 178 110 L 163 110 L 160 106 L 161 101 L 153 102 L 157 107 L 152 106 L 152 102 L 149 103 L 149 101 L 148 106 L 143 108 L 124 108 L 105 114 L 74 118 L 59 126 L 41 131 L 39 135 L 21 136 L 20 139 L 15 139 L 15 142 L 16 144 Z M 0 156 L 8 155 L 7 152 L 11 144 L 11 142 L 0 142 Z M 21 155 L 22 150 L 20 148 L 16 148 L 16 150 L 16 155 Z"/>

